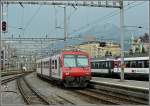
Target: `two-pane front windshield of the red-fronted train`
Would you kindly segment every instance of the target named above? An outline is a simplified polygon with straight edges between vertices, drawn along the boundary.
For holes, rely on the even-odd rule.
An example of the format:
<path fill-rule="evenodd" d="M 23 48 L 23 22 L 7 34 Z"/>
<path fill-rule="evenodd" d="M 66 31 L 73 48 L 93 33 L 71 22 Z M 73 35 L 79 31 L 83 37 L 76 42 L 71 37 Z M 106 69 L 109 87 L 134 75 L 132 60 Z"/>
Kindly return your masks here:
<path fill-rule="evenodd" d="M 88 57 L 84 55 L 64 55 L 65 67 L 88 67 Z"/>

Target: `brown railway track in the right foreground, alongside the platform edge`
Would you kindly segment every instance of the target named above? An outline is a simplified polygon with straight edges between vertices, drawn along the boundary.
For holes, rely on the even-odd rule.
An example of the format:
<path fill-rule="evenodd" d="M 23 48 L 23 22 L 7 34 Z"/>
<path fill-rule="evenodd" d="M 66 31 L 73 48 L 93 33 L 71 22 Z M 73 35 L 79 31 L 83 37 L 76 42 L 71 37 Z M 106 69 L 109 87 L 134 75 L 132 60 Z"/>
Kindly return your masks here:
<path fill-rule="evenodd" d="M 92 82 L 90 88 L 76 91 L 112 104 L 148 104 L 148 90 L 125 88 Z"/>

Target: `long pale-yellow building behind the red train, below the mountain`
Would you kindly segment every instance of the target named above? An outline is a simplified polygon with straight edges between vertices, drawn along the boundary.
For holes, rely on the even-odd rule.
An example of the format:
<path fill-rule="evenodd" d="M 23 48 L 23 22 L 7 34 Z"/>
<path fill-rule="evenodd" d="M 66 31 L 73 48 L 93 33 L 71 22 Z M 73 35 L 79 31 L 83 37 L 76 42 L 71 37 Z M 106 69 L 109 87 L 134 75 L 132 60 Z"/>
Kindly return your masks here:
<path fill-rule="evenodd" d="M 75 48 L 87 52 L 92 58 L 120 56 L 121 54 L 120 45 L 113 42 L 91 41 L 76 45 Z"/>

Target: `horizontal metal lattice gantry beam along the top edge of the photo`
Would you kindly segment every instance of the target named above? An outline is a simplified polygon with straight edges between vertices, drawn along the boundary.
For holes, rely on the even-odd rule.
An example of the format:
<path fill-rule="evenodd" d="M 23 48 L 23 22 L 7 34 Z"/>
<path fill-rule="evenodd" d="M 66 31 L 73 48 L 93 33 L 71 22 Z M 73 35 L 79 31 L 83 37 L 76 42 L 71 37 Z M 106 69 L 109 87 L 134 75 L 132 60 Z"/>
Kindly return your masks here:
<path fill-rule="evenodd" d="M 121 0 L 1 0 L 4 4 L 65 5 L 121 8 Z"/>

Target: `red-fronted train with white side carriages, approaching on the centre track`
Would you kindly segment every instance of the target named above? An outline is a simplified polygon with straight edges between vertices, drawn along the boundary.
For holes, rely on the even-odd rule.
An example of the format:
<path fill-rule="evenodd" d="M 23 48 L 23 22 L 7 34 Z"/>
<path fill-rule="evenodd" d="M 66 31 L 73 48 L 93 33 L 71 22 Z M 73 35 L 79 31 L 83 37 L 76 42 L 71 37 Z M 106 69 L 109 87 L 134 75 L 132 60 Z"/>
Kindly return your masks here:
<path fill-rule="evenodd" d="M 38 60 L 37 75 L 65 87 L 86 87 L 91 79 L 89 55 L 81 51 L 62 51 Z"/>

